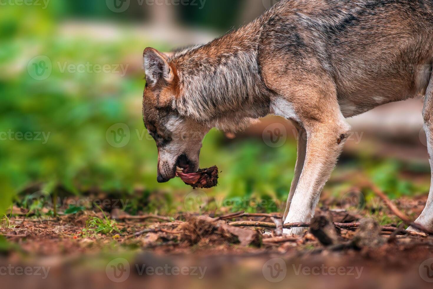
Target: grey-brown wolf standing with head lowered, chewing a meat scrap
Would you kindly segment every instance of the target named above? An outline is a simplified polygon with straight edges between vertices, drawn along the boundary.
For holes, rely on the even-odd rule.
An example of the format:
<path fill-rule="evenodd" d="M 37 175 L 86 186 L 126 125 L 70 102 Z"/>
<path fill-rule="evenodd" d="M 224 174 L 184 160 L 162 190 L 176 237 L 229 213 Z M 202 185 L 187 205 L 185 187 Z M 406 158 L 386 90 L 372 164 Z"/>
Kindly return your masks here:
<path fill-rule="evenodd" d="M 281 0 L 207 44 L 170 57 L 146 48 L 143 120 L 158 182 L 197 171 L 211 128 L 278 115 L 299 131 L 284 223 L 308 222 L 349 136 L 346 118 L 415 97 L 425 97 L 433 171 L 432 36 L 432 0 Z M 433 185 L 416 223 L 433 230 Z"/>

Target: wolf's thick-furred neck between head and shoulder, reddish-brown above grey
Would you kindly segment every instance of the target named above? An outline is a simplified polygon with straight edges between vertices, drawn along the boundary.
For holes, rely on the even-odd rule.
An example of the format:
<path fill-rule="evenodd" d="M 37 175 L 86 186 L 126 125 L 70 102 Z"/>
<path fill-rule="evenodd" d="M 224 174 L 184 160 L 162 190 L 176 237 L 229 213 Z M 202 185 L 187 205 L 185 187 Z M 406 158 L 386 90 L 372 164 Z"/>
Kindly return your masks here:
<path fill-rule="evenodd" d="M 242 27 L 171 58 L 178 67 L 182 96 L 176 108 L 181 114 L 200 122 L 263 114 L 255 111 L 264 101 L 265 88 L 258 63 L 259 33 L 253 29 Z"/>

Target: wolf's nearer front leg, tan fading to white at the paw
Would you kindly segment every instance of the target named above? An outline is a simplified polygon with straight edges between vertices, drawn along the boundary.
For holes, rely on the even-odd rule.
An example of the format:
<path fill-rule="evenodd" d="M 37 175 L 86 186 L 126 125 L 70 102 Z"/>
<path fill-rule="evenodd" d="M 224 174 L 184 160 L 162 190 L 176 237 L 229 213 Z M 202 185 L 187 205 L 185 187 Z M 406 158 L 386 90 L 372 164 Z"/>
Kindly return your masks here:
<path fill-rule="evenodd" d="M 307 154 L 286 223 L 309 222 L 319 201 L 320 192 L 349 136 L 350 126 L 343 117 L 306 128 Z M 305 228 L 284 229 L 285 234 L 299 235 Z"/>

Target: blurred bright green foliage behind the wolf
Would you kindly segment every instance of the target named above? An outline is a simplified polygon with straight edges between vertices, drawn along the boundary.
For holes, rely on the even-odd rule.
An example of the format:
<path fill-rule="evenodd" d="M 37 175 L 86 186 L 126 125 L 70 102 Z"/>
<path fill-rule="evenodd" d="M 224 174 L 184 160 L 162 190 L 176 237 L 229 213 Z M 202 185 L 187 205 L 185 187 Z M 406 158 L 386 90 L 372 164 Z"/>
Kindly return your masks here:
<path fill-rule="evenodd" d="M 224 1 L 225 5 L 228 2 Z M 45 10 L 35 6 L 0 9 L 0 132 L 11 133 L 0 141 L 0 214 L 14 194 L 35 184 L 48 193 L 61 185 L 77 195 L 91 188 L 133 195 L 135 188 L 142 188 L 143 195 L 131 198 L 127 205 L 132 212 L 156 211 L 162 204 L 175 208 L 171 195 L 191 192 L 180 179 L 166 184 L 156 182 L 157 150 L 142 123 L 142 50 L 147 46 L 163 51 L 171 47 L 137 39 L 127 28 L 112 39 L 71 36 L 59 29 L 62 17 L 86 16 L 80 11 L 93 11 L 90 6 L 95 4 L 52 1 Z M 210 11 L 184 15 L 210 17 Z M 87 16 L 101 13 L 93 11 Z M 215 19 L 208 23 L 222 25 Z M 43 80 L 35 79 L 28 71 L 31 60 L 38 55 L 45 55 L 51 62 L 51 75 Z M 65 64 L 87 63 L 108 64 L 113 69 L 115 65 L 129 66 L 124 76 L 94 70 L 62 71 Z M 129 129 L 130 140 L 122 147 L 112 146 L 107 139 L 107 131 L 110 134 L 110 127 L 117 123 Z M 23 137 L 17 133 L 28 132 L 33 140 L 18 140 Z M 38 133 L 40 140 L 35 140 Z M 46 142 L 44 135 L 48 136 Z M 212 130 L 204 140 L 200 165 L 217 165 L 221 171 L 220 185 L 207 193 L 223 196 L 228 200 L 224 204 L 241 204 L 233 206 L 233 210 L 252 211 L 255 208 L 243 200 L 284 202 L 295 158 L 294 142 L 271 148 L 260 139 L 227 141 L 221 132 Z M 391 198 L 426 190 L 399 179 L 399 162 L 358 159 L 356 163 L 361 163 Z M 155 190 L 162 191 L 162 200 L 151 198 Z M 142 208 L 143 204 L 147 208 Z M 275 205 L 260 208 L 279 209 Z"/>

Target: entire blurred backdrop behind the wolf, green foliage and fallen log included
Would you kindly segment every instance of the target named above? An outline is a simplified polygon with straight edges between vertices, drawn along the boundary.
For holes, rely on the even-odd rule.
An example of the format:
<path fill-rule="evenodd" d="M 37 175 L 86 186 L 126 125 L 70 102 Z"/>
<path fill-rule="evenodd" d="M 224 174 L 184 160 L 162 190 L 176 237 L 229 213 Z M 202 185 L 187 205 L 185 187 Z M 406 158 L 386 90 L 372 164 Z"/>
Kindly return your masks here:
<path fill-rule="evenodd" d="M 11 208 L 30 210 L 27 200 L 39 192 L 51 198 L 116 196 L 129 200 L 122 208 L 129 214 L 184 210 L 184 195 L 191 189 L 180 179 L 156 182 L 157 150 L 142 121 L 142 51 L 151 46 L 170 52 L 210 41 L 276 2 L 1 1 L 3 220 L 10 217 Z M 422 106 L 422 100 L 389 104 L 349 120 L 354 133 L 321 205 L 351 191 L 355 185 L 351 177 L 359 173 L 390 198 L 425 199 L 430 167 Z M 278 139 L 272 139 L 269 131 Z M 279 117 L 267 117 L 236 135 L 212 130 L 204 140 L 200 166 L 219 166 L 220 185 L 206 194 L 226 205 L 210 201 L 207 210 L 284 209 L 296 138 L 294 127 Z M 233 206 L 245 199 L 273 201 L 262 206 L 240 201 Z M 60 206 L 64 213 L 66 208 Z M 54 210 L 45 213 L 52 215 Z M 395 221 L 381 213 L 375 217 L 384 224 Z"/>

